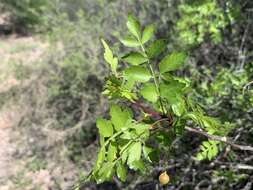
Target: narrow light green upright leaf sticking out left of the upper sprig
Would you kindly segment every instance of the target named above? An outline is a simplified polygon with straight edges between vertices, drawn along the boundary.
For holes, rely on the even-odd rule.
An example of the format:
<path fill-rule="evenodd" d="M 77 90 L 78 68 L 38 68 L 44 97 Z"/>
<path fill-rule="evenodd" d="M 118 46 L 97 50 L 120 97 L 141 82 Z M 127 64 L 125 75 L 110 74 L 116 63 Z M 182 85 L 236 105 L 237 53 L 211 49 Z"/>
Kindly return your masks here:
<path fill-rule="evenodd" d="M 102 39 L 102 44 L 105 48 L 105 52 L 104 52 L 104 59 L 106 60 L 107 63 L 110 64 L 111 66 L 111 70 L 114 74 L 117 73 L 117 66 L 118 66 L 118 59 L 113 57 L 113 53 L 110 49 L 110 47 L 108 46 L 108 44 Z"/>

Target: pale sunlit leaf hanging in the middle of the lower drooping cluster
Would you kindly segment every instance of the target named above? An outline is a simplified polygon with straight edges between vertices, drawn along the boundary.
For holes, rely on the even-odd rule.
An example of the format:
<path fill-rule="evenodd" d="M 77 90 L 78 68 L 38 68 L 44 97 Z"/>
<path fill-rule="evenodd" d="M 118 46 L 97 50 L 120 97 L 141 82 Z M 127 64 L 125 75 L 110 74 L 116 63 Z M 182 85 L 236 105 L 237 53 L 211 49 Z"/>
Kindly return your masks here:
<path fill-rule="evenodd" d="M 135 142 L 134 144 L 131 145 L 131 147 L 128 150 L 128 160 L 127 164 L 128 166 L 132 169 L 132 162 L 134 161 L 139 161 L 141 158 L 141 143 L 140 142 Z"/>

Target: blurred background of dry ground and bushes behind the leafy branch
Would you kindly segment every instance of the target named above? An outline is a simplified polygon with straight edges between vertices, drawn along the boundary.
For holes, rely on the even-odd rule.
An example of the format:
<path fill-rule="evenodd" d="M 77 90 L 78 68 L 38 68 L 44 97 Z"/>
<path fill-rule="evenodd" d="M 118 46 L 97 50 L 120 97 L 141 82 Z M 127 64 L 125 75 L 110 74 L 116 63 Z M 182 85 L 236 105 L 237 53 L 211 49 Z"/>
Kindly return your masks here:
<path fill-rule="evenodd" d="M 0 0 L 0 190 L 70 190 L 97 155 L 96 117 L 109 70 L 100 38 L 125 51 L 128 12 L 155 23 L 167 52 L 189 52 L 178 71 L 205 111 L 231 122 L 233 142 L 253 145 L 252 0 Z M 83 190 L 253 189 L 253 155 L 229 146 L 212 161 L 193 159 L 203 138 L 184 134 L 169 155 L 126 183 Z"/>

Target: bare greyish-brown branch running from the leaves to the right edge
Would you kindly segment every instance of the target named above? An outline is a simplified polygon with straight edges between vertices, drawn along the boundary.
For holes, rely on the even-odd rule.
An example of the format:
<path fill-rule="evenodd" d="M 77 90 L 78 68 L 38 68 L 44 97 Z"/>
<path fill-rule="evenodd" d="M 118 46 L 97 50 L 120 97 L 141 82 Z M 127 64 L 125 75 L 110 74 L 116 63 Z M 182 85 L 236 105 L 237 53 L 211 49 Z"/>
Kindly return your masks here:
<path fill-rule="evenodd" d="M 198 130 L 198 129 L 194 129 L 194 128 L 191 128 L 191 127 L 185 127 L 185 129 L 187 131 L 189 131 L 189 132 L 203 135 L 203 136 L 207 137 L 210 140 L 215 140 L 215 141 L 223 142 L 223 143 L 228 144 L 228 145 L 230 145 L 230 146 L 232 146 L 234 148 L 237 148 L 239 150 L 253 151 L 253 147 L 235 144 L 235 143 L 229 141 L 227 139 L 227 137 L 220 137 L 220 136 L 216 136 L 216 135 L 210 135 L 210 134 L 208 134 L 208 133 L 206 133 L 204 131 L 201 131 L 201 130 Z"/>

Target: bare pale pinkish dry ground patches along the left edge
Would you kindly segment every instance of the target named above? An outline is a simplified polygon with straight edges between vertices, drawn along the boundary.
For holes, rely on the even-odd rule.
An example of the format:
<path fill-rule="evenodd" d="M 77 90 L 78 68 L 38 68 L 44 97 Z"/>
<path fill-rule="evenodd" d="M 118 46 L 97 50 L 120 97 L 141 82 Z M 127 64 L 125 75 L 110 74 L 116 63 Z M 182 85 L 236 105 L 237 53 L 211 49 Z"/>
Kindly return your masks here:
<path fill-rule="evenodd" d="M 19 73 L 20 68 L 21 70 L 22 68 L 35 68 L 45 49 L 45 43 L 36 37 L 1 36 L 0 93 L 29 83 L 32 76 L 24 76 L 27 73 Z M 16 163 L 12 157 L 17 151 L 17 145 L 11 137 L 17 133 L 14 125 L 18 122 L 22 110 L 17 105 L 3 103 L 5 105 L 1 106 L 0 110 L 0 190 L 14 190 L 16 186 L 10 179 L 19 173 L 22 164 Z M 42 170 L 26 175 L 35 183 L 42 184 L 40 185 L 41 190 L 48 189 L 46 185 L 43 186 L 50 181 L 48 171 Z"/>

